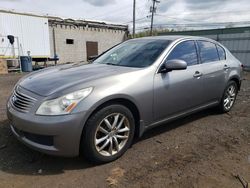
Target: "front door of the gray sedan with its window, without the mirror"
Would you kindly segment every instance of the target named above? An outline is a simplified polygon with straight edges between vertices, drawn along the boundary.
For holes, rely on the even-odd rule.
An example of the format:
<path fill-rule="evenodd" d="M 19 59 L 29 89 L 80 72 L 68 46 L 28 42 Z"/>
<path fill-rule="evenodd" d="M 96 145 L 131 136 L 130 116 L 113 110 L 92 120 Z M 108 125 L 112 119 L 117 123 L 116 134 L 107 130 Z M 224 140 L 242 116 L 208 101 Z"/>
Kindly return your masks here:
<path fill-rule="evenodd" d="M 187 62 L 186 70 L 157 73 L 154 78 L 154 120 L 160 121 L 202 104 L 203 83 L 201 65 L 195 42 L 177 44 L 167 60 L 180 59 Z"/>

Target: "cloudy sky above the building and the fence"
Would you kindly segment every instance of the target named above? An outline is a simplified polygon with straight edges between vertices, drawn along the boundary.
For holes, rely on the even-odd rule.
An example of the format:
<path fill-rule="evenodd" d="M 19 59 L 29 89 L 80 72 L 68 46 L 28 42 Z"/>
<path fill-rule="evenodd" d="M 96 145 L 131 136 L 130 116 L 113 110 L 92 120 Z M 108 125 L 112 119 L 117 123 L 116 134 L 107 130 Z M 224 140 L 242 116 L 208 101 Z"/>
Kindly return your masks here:
<path fill-rule="evenodd" d="M 131 26 L 132 3 L 133 0 L 0 0 L 0 9 Z M 152 0 L 137 0 L 137 31 L 149 27 L 151 4 Z M 182 24 L 196 27 L 197 23 L 239 21 L 250 21 L 250 0 L 161 0 L 157 4 L 155 27 L 177 24 L 175 27 L 182 29 L 185 27 Z"/>

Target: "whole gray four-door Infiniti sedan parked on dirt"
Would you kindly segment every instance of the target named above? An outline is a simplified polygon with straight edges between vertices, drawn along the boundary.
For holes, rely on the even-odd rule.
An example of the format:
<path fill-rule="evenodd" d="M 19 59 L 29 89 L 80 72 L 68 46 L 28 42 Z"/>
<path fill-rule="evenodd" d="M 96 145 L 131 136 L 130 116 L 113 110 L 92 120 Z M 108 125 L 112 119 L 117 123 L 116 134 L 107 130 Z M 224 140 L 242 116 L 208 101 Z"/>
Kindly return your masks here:
<path fill-rule="evenodd" d="M 230 111 L 241 72 L 241 63 L 207 38 L 132 39 L 91 64 L 25 76 L 7 115 L 13 134 L 33 149 L 110 162 L 152 127 L 209 107 Z"/>

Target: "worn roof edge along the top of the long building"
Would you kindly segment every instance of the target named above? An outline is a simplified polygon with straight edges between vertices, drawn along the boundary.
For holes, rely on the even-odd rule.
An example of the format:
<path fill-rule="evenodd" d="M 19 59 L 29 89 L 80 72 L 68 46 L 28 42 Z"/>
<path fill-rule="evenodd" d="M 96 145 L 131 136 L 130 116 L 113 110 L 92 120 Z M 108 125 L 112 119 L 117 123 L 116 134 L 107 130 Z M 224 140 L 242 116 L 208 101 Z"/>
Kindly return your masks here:
<path fill-rule="evenodd" d="M 71 25 L 71 26 L 88 26 L 94 28 L 107 28 L 107 29 L 116 29 L 116 30 L 128 30 L 128 25 L 111 23 L 111 22 L 104 22 L 98 20 L 85 20 L 85 19 L 73 19 L 73 18 L 63 18 L 59 16 L 50 16 L 46 15 L 39 15 L 34 13 L 25 13 L 25 12 L 17 12 L 14 10 L 1 10 L 0 13 L 9 13 L 9 14 L 18 14 L 24 16 L 33 16 L 33 17 L 40 17 L 40 18 L 47 18 L 50 24 L 61 24 L 61 25 Z"/>

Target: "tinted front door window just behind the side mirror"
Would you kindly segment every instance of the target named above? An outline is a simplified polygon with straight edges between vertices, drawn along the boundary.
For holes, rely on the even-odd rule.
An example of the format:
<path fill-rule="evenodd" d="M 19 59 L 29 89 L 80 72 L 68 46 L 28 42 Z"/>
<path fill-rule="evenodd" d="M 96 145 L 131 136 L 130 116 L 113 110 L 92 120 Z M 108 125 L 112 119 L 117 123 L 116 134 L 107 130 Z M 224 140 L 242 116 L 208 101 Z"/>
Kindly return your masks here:
<path fill-rule="evenodd" d="M 184 41 L 178 44 L 167 58 L 167 60 L 173 59 L 180 59 L 186 61 L 188 66 L 198 64 L 195 42 Z"/>

